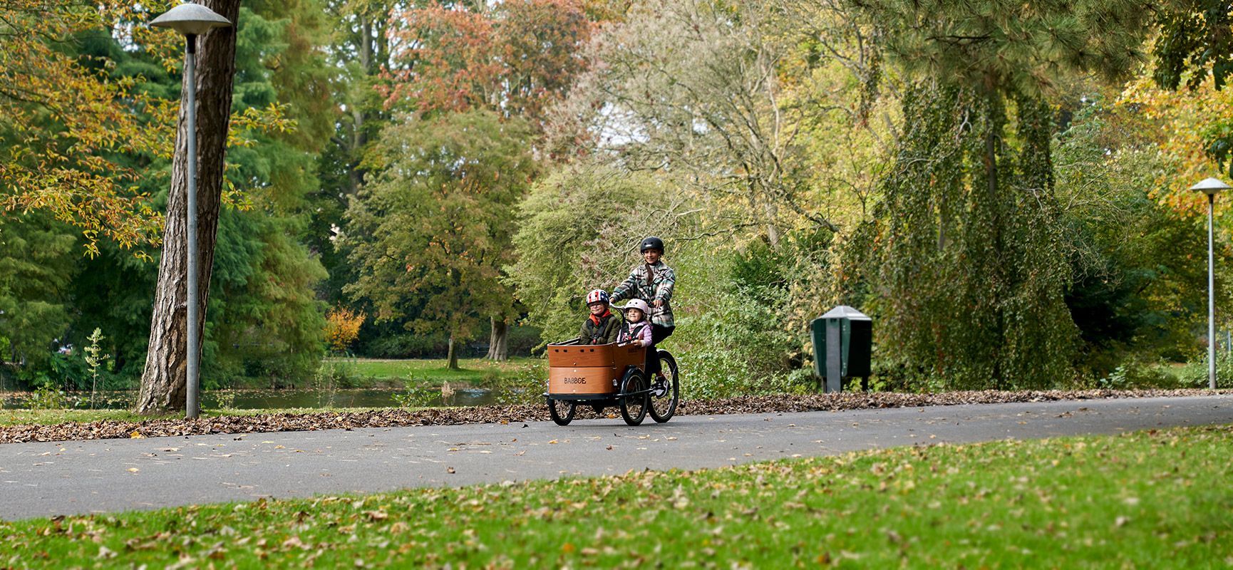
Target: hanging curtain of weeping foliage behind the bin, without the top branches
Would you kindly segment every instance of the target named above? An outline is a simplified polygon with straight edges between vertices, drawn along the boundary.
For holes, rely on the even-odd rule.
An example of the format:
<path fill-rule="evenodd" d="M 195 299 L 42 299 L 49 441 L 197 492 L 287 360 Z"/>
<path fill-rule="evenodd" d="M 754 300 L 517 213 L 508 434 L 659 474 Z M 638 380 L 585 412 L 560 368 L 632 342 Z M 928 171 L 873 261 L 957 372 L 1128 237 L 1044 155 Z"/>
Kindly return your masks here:
<path fill-rule="evenodd" d="M 1070 270 L 1042 100 L 917 83 L 895 168 L 846 244 L 884 359 L 944 389 L 1036 389 L 1073 370 Z"/>

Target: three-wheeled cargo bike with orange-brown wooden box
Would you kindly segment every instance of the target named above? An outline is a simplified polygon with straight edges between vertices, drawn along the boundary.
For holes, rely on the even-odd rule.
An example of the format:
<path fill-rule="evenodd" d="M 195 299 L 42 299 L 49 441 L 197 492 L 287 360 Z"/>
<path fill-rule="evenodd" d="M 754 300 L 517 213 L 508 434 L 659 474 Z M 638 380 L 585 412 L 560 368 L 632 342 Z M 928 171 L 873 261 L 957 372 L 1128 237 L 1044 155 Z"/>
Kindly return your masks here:
<path fill-rule="evenodd" d="M 620 408 L 625 423 L 637 426 L 647 413 L 667 422 L 681 400 L 677 360 L 657 350 L 665 379 L 647 378 L 646 348 L 625 344 L 581 344 L 573 339 L 547 345 L 547 411 L 557 426 L 568 426 L 578 406 L 596 413 Z"/>

